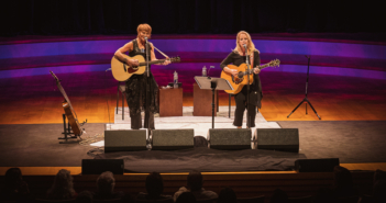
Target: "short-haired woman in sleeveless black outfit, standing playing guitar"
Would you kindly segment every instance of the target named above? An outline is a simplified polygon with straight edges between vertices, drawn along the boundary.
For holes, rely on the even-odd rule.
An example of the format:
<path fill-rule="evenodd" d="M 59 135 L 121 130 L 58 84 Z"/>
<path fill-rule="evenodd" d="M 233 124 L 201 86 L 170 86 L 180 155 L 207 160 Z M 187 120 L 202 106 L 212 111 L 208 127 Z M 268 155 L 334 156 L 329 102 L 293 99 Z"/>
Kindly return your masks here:
<path fill-rule="evenodd" d="M 151 48 L 146 48 L 146 38 L 150 38 L 152 34 L 152 27 L 148 24 L 140 24 L 136 29 L 137 37 L 121 48 L 119 48 L 114 57 L 120 61 L 126 64 L 130 67 L 139 66 L 137 59 L 128 59 L 124 58 L 122 54 L 129 52 L 130 57 L 134 57 L 136 55 L 142 55 L 143 58 L 146 58 L 150 61 L 157 60 L 154 55 L 154 46 L 150 43 Z M 165 60 L 162 65 L 170 64 L 169 60 Z M 151 66 L 148 66 L 151 68 Z M 154 113 L 158 112 L 158 103 L 157 103 L 157 92 L 158 86 L 154 80 L 151 69 L 147 72 L 145 71 L 143 75 L 133 75 L 129 80 L 126 80 L 126 101 L 130 109 L 130 117 L 131 117 L 131 128 L 139 129 L 142 128 L 142 119 L 141 111 L 146 108 L 146 83 L 150 83 L 150 90 L 147 92 L 147 103 L 148 103 L 148 114 L 145 114 L 145 127 L 148 126 L 150 129 L 154 129 Z"/>

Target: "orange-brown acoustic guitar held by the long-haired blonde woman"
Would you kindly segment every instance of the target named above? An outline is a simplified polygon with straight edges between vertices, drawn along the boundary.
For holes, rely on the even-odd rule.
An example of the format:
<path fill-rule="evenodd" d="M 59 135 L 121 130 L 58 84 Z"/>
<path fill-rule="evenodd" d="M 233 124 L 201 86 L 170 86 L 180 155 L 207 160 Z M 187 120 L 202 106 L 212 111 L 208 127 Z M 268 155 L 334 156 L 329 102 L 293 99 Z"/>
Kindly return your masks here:
<path fill-rule="evenodd" d="M 279 65 L 280 65 L 280 60 L 275 59 L 275 60 L 271 60 L 268 64 L 260 65 L 255 68 L 264 69 L 267 67 L 276 67 L 276 66 L 278 67 Z M 232 93 L 232 94 L 239 93 L 243 89 L 243 87 L 247 84 L 247 76 L 250 76 L 250 84 L 253 82 L 252 72 L 254 71 L 255 68 L 251 68 L 250 72 L 247 71 L 246 64 L 241 64 L 239 67 L 234 65 L 228 65 L 228 68 L 236 69 L 239 74 L 236 77 L 234 77 L 233 75 L 228 74 L 223 70 L 221 71 L 221 78 L 228 80 L 229 83 L 231 83 L 231 86 L 233 87 L 233 90 L 225 90 L 227 93 Z"/>

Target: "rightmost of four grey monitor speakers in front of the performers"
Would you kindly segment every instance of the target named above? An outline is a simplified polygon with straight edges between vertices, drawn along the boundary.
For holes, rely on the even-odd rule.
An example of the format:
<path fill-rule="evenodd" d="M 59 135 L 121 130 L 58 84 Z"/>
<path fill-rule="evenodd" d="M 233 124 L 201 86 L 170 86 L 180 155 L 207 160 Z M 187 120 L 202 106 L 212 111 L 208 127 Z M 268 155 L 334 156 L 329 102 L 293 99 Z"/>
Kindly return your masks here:
<path fill-rule="evenodd" d="M 298 128 L 257 128 L 257 149 L 299 153 Z"/>

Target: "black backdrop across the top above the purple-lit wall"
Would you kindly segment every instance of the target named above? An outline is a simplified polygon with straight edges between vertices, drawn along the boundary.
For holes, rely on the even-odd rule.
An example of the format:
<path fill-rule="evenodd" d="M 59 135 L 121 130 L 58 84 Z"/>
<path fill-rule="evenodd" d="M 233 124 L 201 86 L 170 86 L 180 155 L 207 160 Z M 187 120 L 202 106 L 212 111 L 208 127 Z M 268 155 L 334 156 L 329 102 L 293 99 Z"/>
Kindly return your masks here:
<path fill-rule="evenodd" d="M 382 1 L 4 0 L 1 36 L 386 32 Z"/>

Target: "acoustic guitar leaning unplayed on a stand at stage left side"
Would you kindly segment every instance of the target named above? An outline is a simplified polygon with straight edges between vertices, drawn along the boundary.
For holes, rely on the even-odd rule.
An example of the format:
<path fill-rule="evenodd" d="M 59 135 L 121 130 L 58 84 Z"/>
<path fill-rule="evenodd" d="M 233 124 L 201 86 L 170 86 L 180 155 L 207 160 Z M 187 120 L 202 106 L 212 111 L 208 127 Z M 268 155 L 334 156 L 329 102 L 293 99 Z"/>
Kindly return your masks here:
<path fill-rule="evenodd" d="M 78 116 L 76 115 L 76 113 L 73 109 L 71 102 L 69 102 L 69 99 L 68 99 L 66 92 L 64 91 L 64 89 L 60 84 L 60 80 L 55 76 L 55 74 L 53 71 L 49 71 L 49 74 L 55 78 L 56 86 L 60 90 L 63 97 L 65 98 L 65 100 L 63 101 L 63 109 L 64 109 L 65 114 L 67 116 L 69 126 L 71 126 L 74 134 L 80 137 L 80 135 L 84 132 L 80 128 L 80 123 L 78 122 Z"/>

